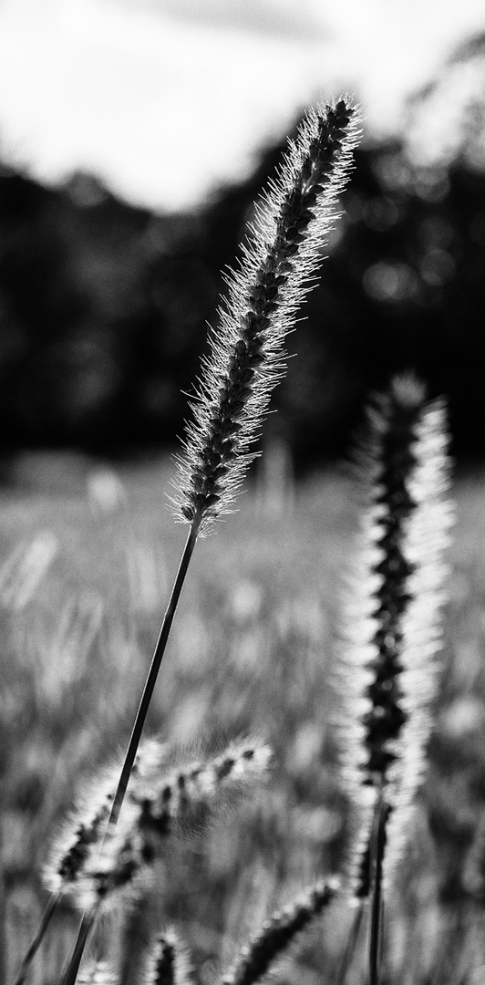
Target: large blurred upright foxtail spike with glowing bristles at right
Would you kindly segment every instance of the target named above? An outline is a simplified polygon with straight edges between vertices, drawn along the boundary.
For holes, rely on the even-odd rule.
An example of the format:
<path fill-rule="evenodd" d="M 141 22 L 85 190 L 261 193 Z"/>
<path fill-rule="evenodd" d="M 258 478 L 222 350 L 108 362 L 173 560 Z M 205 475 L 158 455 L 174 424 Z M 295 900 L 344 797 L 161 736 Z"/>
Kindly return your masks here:
<path fill-rule="evenodd" d="M 371 890 L 372 818 L 386 812 L 385 880 L 401 857 L 436 688 L 451 508 L 442 401 L 410 374 L 376 398 L 359 450 L 365 498 L 336 668 L 342 777 L 353 805 L 349 885 Z"/>

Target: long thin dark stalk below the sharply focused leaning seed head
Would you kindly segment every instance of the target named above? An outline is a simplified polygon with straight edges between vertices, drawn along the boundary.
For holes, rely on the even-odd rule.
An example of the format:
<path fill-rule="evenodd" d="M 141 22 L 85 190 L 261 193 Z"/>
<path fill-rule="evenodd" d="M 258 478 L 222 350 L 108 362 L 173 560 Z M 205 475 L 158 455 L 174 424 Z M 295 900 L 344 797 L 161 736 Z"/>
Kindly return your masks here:
<path fill-rule="evenodd" d="M 106 825 L 106 830 L 113 830 L 118 821 L 121 808 L 123 806 L 123 801 L 125 799 L 128 782 L 133 769 L 133 764 L 135 762 L 135 757 L 137 755 L 138 747 L 140 745 L 140 740 L 142 738 L 142 732 L 147 718 L 147 713 L 150 707 L 150 702 L 152 700 L 152 693 L 154 686 L 156 684 L 156 679 L 158 677 L 158 671 L 160 669 L 163 654 L 165 652 L 168 636 L 173 623 L 173 617 L 175 616 L 175 611 L 180 598 L 180 593 L 185 581 L 185 576 L 187 574 L 187 569 L 196 546 L 198 534 L 199 534 L 200 522 L 194 521 L 191 524 L 189 535 L 185 543 L 185 548 L 180 559 L 180 564 L 175 577 L 173 588 L 171 591 L 170 598 L 168 600 L 168 605 L 165 610 L 165 615 L 163 617 L 163 622 L 158 633 L 158 639 L 156 640 L 156 645 L 153 651 L 152 664 L 150 666 L 149 673 L 147 675 L 147 680 L 145 683 L 145 688 L 143 690 L 142 697 L 140 699 L 140 704 L 138 707 L 137 715 L 135 718 L 135 723 L 133 726 L 130 742 L 128 744 L 128 749 L 126 751 L 125 760 L 121 769 L 121 774 L 116 788 L 116 793 L 113 799 L 113 805 L 111 808 L 111 813 Z M 83 920 L 78 934 L 78 939 L 74 948 L 73 956 L 71 962 L 65 975 L 62 978 L 62 985 L 75 985 L 79 966 L 81 964 L 81 959 L 83 957 L 83 952 L 88 941 L 88 937 L 91 932 L 91 928 L 94 925 L 98 905 L 95 905 L 89 913 L 83 915 Z"/>

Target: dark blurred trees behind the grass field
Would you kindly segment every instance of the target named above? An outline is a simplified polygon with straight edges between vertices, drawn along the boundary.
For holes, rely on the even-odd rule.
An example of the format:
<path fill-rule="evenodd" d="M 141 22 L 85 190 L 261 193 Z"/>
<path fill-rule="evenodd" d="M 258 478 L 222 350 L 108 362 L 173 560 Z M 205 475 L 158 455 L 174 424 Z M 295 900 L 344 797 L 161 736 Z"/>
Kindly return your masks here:
<path fill-rule="evenodd" d="M 318 288 L 288 339 L 267 433 L 299 467 L 340 454 L 370 387 L 414 367 L 451 402 L 453 451 L 483 454 L 485 37 L 409 100 L 403 136 L 364 142 Z M 481 83 L 480 84 L 480 80 Z M 450 93 L 454 94 L 454 100 Z M 440 153 L 419 153 L 448 103 Z M 455 117 L 450 118 L 450 112 Z M 297 121 L 295 121 L 295 126 Z M 428 139 L 429 143 L 429 139 Z M 0 171 L 1 447 L 171 447 L 221 270 L 281 146 L 197 211 L 154 215 L 95 176 L 45 188 Z"/>

